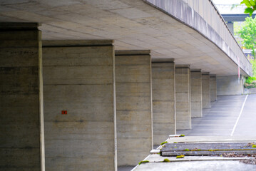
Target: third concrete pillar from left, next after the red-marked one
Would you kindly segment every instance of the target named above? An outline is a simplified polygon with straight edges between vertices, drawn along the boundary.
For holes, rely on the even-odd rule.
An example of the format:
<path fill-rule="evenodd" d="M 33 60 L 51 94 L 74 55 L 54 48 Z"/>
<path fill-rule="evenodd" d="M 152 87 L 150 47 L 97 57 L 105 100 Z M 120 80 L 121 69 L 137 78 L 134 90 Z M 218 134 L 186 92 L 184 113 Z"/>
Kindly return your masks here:
<path fill-rule="evenodd" d="M 116 51 L 118 166 L 137 165 L 153 147 L 150 51 Z"/>

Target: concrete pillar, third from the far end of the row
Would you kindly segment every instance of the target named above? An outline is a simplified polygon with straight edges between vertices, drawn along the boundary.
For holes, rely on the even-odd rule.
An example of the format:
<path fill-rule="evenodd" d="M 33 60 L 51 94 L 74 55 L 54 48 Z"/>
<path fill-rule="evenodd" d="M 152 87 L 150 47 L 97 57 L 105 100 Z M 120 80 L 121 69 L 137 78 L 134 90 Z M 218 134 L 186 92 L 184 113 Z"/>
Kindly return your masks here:
<path fill-rule="evenodd" d="M 203 116 L 202 110 L 202 73 L 201 70 L 191 70 L 191 117 L 198 118 Z"/>

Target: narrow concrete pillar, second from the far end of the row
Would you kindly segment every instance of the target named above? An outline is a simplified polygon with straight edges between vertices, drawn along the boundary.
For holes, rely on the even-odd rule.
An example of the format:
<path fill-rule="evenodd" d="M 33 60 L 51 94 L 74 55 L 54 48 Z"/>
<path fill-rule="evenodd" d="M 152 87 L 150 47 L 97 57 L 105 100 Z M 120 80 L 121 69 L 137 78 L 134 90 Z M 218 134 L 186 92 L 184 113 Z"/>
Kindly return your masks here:
<path fill-rule="evenodd" d="M 203 108 L 210 108 L 210 73 L 202 73 Z"/>

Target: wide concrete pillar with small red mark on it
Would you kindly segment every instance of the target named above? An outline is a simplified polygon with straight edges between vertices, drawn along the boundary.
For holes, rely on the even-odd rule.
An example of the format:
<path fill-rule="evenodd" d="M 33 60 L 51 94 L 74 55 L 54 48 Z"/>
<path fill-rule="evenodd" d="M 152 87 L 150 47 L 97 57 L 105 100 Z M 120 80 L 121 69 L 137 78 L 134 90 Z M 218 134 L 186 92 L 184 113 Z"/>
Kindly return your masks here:
<path fill-rule="evenodd" d="M 43 41 L 46 170 L 117 170 L 113 41 Z"/>

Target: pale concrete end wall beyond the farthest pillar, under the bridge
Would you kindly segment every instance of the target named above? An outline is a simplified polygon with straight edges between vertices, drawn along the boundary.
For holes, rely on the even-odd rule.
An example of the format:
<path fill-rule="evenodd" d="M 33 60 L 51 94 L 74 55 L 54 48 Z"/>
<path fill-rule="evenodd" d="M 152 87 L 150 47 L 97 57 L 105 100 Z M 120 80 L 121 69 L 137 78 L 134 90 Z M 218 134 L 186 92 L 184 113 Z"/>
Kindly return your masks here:
<path fill-rule="evenodd" d="M 238 76 L 217 76 L 217 95 L 241 95 L 243 93 L 243 80 Z"/>

